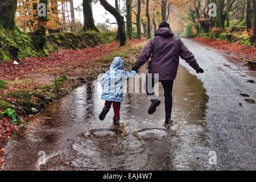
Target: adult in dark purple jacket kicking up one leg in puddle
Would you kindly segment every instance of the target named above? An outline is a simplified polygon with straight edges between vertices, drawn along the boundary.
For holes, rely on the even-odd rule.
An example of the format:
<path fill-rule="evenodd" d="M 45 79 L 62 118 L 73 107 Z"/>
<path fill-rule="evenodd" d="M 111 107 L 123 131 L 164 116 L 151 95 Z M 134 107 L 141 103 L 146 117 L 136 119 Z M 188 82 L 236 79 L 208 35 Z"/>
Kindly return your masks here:
<path fill-rule="evenodd" d="M 141 56 L 133 67 L 133 70 L 137 71 L 151 57 L 151 61 L 148 63 L 148 73 L 151 73 L 149 74 L 151 76 L 147 76 L 147 80 L 151 79 L 152 85 L 148 85 L 148 81 L 146 81 L 146 91 L 152 102 L 148 114 L 154 114 L 156 107 L 161 103 L 152 90 L 156 82 L 160 81 L 164 88 L 165 123 L 167 125 L 171 122 L 172 87 L 177 76 L 179 56 L 195 69 L 197 73 L 204 73 L 203 69 L 197 64 L 193 53 L 188 50 L 179 38 L 174 36 L 170 24 L 162 22 L 159 29 L 155 32 L 155 38 L 143 48 Z M 155 74 L 158 74 L 159 79 L 154 79 Z"/>

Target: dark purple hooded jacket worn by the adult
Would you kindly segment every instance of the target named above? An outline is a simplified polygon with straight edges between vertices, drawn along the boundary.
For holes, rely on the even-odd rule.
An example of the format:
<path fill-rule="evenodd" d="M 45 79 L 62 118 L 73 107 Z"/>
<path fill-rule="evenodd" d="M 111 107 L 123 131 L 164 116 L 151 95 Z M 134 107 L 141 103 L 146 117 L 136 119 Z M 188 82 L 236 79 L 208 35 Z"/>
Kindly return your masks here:
<path fill-rule="evenodd" d="M 198 71 L 199 64 L 184 43 L 174 36 L 170 28 L 159 28 L 152 39 L 142 50 L 135 68 L 139 69 L 151 57 L 148 73 L 159 73 L 159 80 L 175 80 L 179 66 L 179 56 L 193 69 Z"/>

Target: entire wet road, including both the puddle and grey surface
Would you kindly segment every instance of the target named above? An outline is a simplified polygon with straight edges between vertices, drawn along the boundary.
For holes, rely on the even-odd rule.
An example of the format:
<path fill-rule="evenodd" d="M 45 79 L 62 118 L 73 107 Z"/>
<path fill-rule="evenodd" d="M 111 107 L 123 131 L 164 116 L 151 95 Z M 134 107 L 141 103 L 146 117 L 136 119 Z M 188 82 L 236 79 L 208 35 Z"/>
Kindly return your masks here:
<path fill-rule="evenodd" d="M 184 42 L 206 72 L 196 77 L 181 61 L 184 67 L 174 84 L 174 131 L 163 126 L 160 86 L 162 104 L 154 115 L 147 114 L 146 94 L 125 96 L 121 120 L 127 123 L 127 134 L 113 133 L 113 111 L 104 122 L 98 120 L 104 101 L 101 86 L 94 81 L 30 118 L 7 144 L 3 169 L 255 169 L 256 115 L 255 104 L 249 102 L 255 100 L 256 89 L 247 82 L 253 78 L 217 52 Z M 44 164 L 38 163 L 42 151 Z M 216 151 L 217 165 L 209 164 L 209 151 Z"/>

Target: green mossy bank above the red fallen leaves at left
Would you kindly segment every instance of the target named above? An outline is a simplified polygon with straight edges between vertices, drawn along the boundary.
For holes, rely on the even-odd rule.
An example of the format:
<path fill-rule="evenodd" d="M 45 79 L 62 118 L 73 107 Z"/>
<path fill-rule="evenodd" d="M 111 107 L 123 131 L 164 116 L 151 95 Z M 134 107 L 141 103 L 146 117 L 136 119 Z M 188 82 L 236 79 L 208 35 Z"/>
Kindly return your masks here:
<path fill-rule="evenodd" d="M 115 40 L 113 32 L 81 32 L 71 34 L 67 32 L 48 34 L 47 43 L 43 49 L 36 48 L 34 34 L 27 34 L 19 30 L 5 30 L 0 28 L 0 61 L 10 59 L 22 60 L 25 57 L 48 56 L 58 48 L 81 49 L 106 44 Z"/>

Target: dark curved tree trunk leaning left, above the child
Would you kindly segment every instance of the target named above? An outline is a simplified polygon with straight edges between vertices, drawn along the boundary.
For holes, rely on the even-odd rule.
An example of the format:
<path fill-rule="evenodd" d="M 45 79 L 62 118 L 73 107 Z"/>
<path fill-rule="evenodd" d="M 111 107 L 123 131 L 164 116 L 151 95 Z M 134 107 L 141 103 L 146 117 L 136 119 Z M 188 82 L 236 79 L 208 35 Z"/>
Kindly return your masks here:
<path fill-rule="evenodd" d="M 123 16 L 115 9 L 115 7 L 111 6 L 106 0 L 99 0 L 101 5 L 104 7 L 105 10 L 109 11 L 115 19 L 117 20 L 118 25 L 118 33 L 119 33 L 119 40 L 120 46 L 126 45 L 126 36 L 125 36 L 125 19 Z"/>

